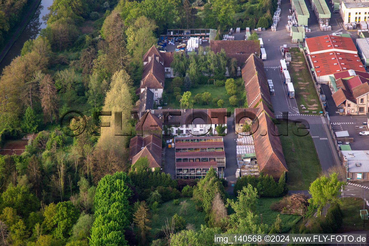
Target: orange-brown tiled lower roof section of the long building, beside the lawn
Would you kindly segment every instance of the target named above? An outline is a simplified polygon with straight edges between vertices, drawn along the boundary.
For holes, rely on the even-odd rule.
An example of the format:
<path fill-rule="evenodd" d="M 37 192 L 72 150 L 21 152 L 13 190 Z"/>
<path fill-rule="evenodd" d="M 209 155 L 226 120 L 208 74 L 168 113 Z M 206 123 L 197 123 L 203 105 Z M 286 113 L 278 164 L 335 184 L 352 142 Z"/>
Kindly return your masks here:
<path fill-rule="evenodd" d="M 275 179 L 279 178 L 282 172 L 288 171 L 287 164 L 279 136 L 276 136 L 278 131 L 265 112 L 260 114 L 258 129 L 253 131 L 255 155 L 260 171 L 272 175 Z"/>

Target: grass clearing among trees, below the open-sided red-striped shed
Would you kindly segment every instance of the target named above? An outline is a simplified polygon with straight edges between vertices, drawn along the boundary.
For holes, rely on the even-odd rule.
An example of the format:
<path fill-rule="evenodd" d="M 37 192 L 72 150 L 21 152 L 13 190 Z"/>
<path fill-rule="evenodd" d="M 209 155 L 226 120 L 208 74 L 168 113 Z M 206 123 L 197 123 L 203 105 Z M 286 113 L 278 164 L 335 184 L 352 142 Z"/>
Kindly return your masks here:
<path fill-rule="evenodd" d="M 158 230 L 162 229 L 162 226 L 165 226 L 165 221 L 168 218 L 170 223 L 170 219 L 174 214 L 178 214 L 182 216 L 186 224 L 193 224 L 197 231 L 201 229 L 201 224 L 204 224 L 205 212 L 199 212 L 195 208 L 195 202 L 191 200 L 190 197 L 179 198 L 179 202 L 186 200 L 187 203 L 190 204 L 188 207 L 187 215 L 180 214 L 181 205 L 173 205 L 173 201 L 164 202 L 159 205 L 157 214 L 159 215 L 159 219 L 157 221 L 151 222 L 151 230 L 150 233 L 155 235 Z M 150 210 L 151 214 L 154 215 L 152 210 Z M 151 219 L 152 220 L 152 219 Z"/>

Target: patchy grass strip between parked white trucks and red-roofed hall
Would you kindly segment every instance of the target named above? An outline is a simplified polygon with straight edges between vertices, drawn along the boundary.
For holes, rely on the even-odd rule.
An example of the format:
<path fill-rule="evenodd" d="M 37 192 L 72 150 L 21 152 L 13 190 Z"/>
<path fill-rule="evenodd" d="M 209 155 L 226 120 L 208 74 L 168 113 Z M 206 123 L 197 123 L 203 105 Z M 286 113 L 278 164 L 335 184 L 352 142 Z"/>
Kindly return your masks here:
<path fill-rule="evenodd" d="M 297 48 L 290 49 L 290 52 L 292 62 L 290 62 L 288 71 L 295 89 L 295 98 L 300 114 L 305 114 L 305 110 L 300 107 L 301 104 L 305 105 L 306 110 L 309 111 L 307 114 L 311 114 L 312 111 L 323 111 L 303 53 Z"/>

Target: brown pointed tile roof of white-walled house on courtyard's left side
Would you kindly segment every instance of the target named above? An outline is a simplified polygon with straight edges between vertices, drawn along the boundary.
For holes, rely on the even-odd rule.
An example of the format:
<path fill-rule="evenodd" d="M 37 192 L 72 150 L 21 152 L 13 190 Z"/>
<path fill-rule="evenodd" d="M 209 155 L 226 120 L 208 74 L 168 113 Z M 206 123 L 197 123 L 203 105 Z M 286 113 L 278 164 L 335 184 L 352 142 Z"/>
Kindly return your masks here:
<path fill-rule="evenodd" d="M 164 66 L 156 60 L 156 55 L 152 55 L 151 60 L 144 66 L 140 88 L 164 89 Z"/>

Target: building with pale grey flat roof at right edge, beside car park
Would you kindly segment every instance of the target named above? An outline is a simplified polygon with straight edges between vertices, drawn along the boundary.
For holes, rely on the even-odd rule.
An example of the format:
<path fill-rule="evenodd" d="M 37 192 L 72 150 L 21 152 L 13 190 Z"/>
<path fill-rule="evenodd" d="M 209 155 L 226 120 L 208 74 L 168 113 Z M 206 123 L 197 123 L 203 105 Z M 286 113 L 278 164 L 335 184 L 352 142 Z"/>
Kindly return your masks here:
<path fill-rule="evenodd" d="M 369 180 L 369 150 L 341 150 L 348 181 Z"/>

